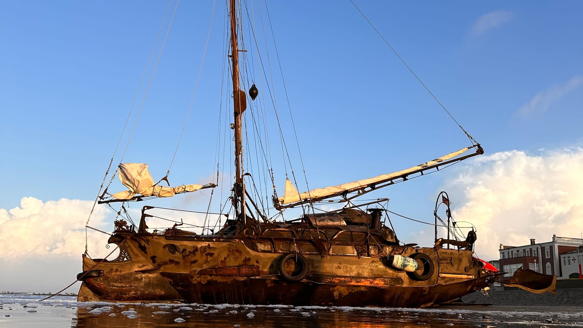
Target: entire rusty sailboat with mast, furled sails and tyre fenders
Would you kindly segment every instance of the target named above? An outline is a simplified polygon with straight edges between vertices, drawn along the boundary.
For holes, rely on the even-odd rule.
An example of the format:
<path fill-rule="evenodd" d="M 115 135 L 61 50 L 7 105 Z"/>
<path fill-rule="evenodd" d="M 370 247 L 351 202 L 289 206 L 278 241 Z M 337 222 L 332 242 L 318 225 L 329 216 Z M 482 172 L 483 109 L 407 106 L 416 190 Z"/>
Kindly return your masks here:
<path fill-rule="evenodd" d="M 287 179 L 283 196 L 272 197 L 282 213 L 302 208 L 296 219 L 268 217 L 254 200 L 250 173 L 244 170 L 242 120 L 257 97 L 240 86 L 237 9 L 229 0 L 230 63 L 233 99 L 233 214 L 208 233 L 195 233 L 183 222 L 161 231 L 149 228 L 153 206 L 143 206 L 139 224 L 115 220 L 108 243 L 117 245 L 116 259 L 83 254 L 79 301 L 284 304 L 318 306 L 398 306 L 422 308 L 449 302 L 494 282 L 532 292 L 554 292 L 556 277 L 519 269 L 509 280 L 473 252 L 477 236 L 457 238 L 447 194 L 440 194 L 434 212 L 435 244 L 403 243 L 392 229 L 387 198 L 357 203 L 357 197 L 483 153 L 482 146 L 459 149 L 411 168 L 337 186 L 299 192 Z M 469 136 L 469 134 L 468 134 Z M 470 138 L 473 141 L 473 138 Z M 216 183 L 177 187 L 156 183 L 144 163 L 121 163 L 117 176 L 128 190 L 108 194 L 98 203 L 126 203 L 213 189 Z M 105 179 L 104 179 L 105 181 Z M 252 179 L 250 180 L 252 182 Z M 165 180 L 167 182 L 167 179 Z M 274 187 L 275 190 L 275 187 Z M 336 200 L 338 210 L 316 211 L 314 204 Z M 437 208 L 447 207 L 447 225 Z M 123 207 L 122 207 L 123 208 Z M 224 213 L 221 213 L 223 215 Z M 388 226 L 387 222 L 389 222 Z M 440 224 L 440 222 L 443 222 Z M 438 226 L 448 236 L 439 238 Z M 179 228 L 180 227 L 180 228 Z M 449 233 L 452 232 L 452 239 Z"/>

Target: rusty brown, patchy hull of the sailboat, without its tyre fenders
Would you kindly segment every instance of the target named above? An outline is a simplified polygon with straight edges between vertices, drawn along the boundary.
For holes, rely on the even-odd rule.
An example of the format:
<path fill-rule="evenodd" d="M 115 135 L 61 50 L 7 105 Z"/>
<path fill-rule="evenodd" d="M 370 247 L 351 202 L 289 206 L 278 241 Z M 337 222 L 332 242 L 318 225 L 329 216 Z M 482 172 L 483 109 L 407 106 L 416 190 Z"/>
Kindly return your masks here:
<path fill-rule="evenodd" d="M 364 256 L 354 243 L 329 245 L 325 255 L 304 251 L 310 270 L 302 280 L 288 281 L 279 274 L 279 260 L 295 241 L 124 237 L 132 260 L 97 263 L 84 257 L 84 270 L 103 270 L 103 277 L 83 281 L 79 301 L 421 308 L 493 281 L 466 250 L 385 246 Z M 433 273 L 427 280 L 412 279 L 387 264 L 389 253 L 424 253 Z"/>

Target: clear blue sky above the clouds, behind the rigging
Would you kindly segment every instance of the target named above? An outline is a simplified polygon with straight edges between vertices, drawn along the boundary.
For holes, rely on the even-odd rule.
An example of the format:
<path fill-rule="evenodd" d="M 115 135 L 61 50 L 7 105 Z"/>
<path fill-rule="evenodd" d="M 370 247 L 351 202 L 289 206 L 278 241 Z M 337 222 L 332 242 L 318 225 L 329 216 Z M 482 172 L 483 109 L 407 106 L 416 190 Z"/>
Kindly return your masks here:
<path fill-rule="evenodd" d="M 580 145 L 582 2 L 355 3 L 487 153 Z M 154 179 L 166 173 L 180 136 L 212 5 L 178 5 L 124 158 L 149 163 Z M 469 145 L 350 2 L 268 5 L 310 188 L 407 168 Z M 0 208 L 18 207 L 22 197 L 93 200 L 168 2 L 2 1 L 0 6 L 5 186 Z M 173 184 L 210 182 L 216 167 L 223 27 L 224 4 L 217 2 L 194 106 L 170 174 Z M 258 22 L 257 32 L 262 33 Z M 266 33 L 269 37 L 269 27 Z M 283 133 L 301 176 L 270 47 Z M 269 128 L 276 136 L 276 126 Z M 273 137 L 281 194 L 285 175 L 278 145 Z M 453 176 L 436 173 L 378 196 L 391 198 L 396 212 L 431 219 L 434 197 Z M 454 204 L 463 197 L 450 196 Z M 181 199 L 165 201 L 159 204 L 184 205 Z M 419 228 L 408 222 L 396 226 L 406 236 Z"/>

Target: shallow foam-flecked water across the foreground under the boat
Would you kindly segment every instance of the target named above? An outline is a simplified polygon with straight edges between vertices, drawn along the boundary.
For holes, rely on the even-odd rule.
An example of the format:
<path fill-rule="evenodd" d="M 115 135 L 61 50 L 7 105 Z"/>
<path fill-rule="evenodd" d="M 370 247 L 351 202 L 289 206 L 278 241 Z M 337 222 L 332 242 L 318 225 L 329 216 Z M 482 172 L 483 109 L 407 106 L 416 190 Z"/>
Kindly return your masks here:
<path fill-rule="evenodd" d="M 440 306 L 429 309 L 76 302 L 0 294 L 0 327 L 583 327 L 583 309 Z"/>

